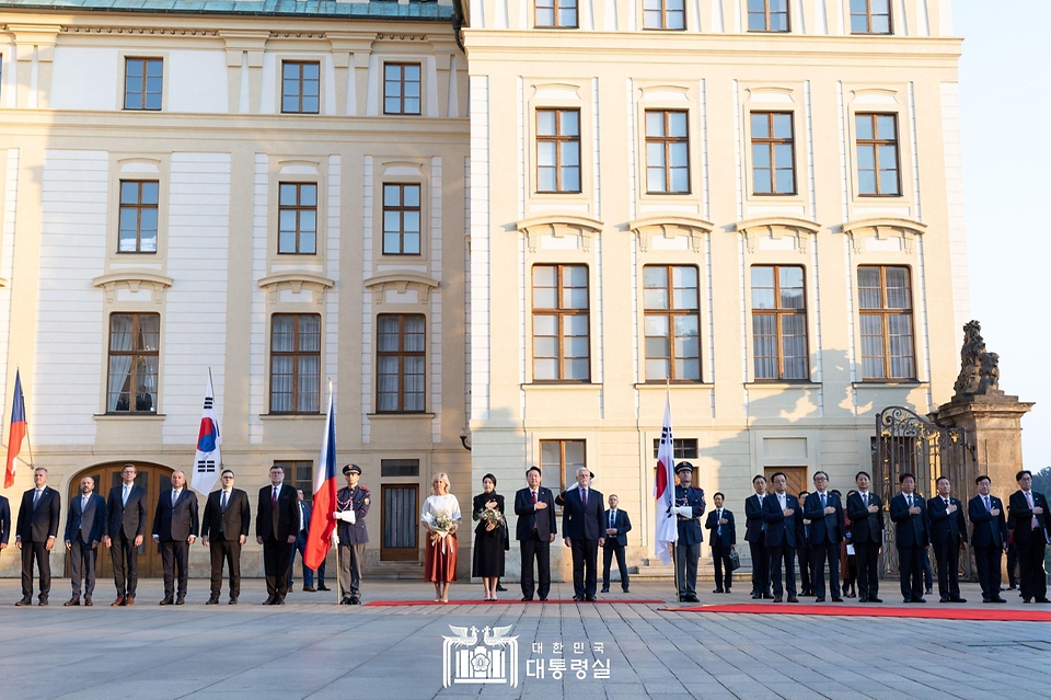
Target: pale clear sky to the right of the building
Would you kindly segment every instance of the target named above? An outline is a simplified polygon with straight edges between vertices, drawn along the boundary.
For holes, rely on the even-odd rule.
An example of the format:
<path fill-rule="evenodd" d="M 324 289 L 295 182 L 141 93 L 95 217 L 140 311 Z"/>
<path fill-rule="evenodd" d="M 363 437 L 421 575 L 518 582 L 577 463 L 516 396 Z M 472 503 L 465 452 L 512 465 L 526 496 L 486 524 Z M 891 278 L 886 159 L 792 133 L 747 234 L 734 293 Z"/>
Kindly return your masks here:
<path fill-rule="evenodd" d="M 1024 460 L 1051 466 L 1051 2 L 955 0 L 971 318 L 1000 354 L 1000 388 L 1033 401 Z M 1043 203 L 1042 205 L 1040 203 Z M 935 401 L 939 401 L 935 398 Z"/>

